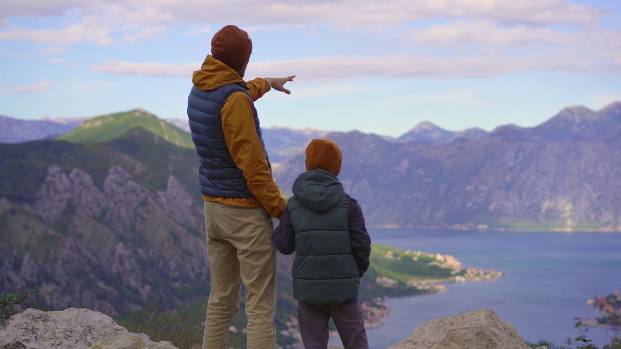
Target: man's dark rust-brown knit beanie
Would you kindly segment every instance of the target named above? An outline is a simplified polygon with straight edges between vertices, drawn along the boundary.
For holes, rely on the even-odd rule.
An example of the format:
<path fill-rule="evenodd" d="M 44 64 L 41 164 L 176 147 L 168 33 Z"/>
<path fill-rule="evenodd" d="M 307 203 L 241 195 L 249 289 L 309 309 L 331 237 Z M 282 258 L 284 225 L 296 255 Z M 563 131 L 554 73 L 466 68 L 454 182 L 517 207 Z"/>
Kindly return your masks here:
<path fill-rule="evenodd" d="M 250 60 L 252 40 L 248 33 L 235 25 L 225 25 L 211 39 L 211 55 L 230 66 L 240 70 Z"/>

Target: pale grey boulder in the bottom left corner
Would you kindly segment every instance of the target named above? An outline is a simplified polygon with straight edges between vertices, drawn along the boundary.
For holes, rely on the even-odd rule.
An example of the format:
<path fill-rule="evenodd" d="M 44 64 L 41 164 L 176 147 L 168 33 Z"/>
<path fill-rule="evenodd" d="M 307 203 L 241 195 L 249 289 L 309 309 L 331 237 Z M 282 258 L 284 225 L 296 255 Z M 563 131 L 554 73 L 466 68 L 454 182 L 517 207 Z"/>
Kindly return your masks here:
<path fill-rule="evenodd" d="M 27 309 L 0 325 L 0 349 L 177 349 L 130 333 L 111 317 L 89 309 Z"/>

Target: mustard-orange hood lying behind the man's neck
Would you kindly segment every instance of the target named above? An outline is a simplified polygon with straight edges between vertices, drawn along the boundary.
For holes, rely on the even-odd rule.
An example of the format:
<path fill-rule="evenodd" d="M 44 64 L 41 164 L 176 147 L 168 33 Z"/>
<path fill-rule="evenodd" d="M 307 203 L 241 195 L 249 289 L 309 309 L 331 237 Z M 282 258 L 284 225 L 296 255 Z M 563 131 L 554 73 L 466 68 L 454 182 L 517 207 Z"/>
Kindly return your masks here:
<path fill-rule="evenodd" d="M 201 65 L 201 70 L 194 71 L 192 83 L 201 91 L 212 91 L 230 83 L 246 84 L 237 71 L 232 70 L 212 55 L 207 55 Z"/>

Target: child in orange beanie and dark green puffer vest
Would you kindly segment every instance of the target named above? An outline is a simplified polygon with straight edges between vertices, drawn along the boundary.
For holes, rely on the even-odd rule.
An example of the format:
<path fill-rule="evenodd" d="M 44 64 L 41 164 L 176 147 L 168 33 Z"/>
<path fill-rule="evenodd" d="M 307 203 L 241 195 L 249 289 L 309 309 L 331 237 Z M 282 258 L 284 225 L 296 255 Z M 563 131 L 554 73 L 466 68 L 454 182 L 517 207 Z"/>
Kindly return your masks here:
<path fill-rule="evenodd" d="M 330 317 L 345 349 L 368 349 L 358 287 L 369 267 L 371 238 L 355 199 L 338 181 L 337 143 L 314 139 L 306 148 L 306 172 L 293 184 L 272 240 L 293 261 L 293 296 L 306 349 L 326 349 Z"/>

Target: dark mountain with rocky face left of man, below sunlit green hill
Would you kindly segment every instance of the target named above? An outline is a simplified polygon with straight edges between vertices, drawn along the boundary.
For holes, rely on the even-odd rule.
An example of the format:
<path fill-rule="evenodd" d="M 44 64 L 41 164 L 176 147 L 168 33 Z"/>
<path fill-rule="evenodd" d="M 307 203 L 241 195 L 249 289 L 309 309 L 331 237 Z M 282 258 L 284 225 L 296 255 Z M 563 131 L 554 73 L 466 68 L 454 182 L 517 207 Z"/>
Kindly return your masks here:
<path fill-rule="evenodd" d="M 55 309 L 122 314 L 204 299 L 196 154 L 143 129 L 104 144 L 0 145 L 2 293 L 33 285 Z"/>

